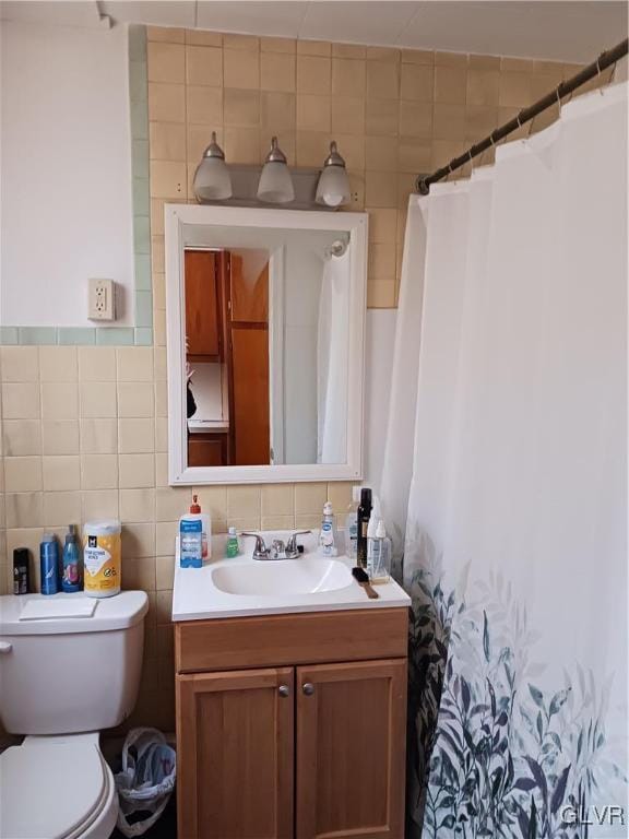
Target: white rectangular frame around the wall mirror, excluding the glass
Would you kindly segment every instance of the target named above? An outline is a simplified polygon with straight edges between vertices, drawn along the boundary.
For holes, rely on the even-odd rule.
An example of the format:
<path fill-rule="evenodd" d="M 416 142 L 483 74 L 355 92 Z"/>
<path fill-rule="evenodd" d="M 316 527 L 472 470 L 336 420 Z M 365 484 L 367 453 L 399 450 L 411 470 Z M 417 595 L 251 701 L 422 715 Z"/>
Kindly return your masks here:
<path fill-rule="evenodd" d="M 168 481 L 171 486 L 358 481 L 363 477 L 367 213 L 166 204 L 166 348 L 168 362 Z M 260 466 L 188 466 L 183 225 L 349 232 L 347 461 Z"/>

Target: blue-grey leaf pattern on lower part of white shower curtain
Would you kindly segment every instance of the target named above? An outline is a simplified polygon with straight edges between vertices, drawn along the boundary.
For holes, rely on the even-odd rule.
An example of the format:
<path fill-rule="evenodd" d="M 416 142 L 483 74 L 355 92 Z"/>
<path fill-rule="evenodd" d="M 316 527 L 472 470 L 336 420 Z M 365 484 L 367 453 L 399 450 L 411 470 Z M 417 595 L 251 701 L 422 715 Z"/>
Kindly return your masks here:
<path fill-rule="evenodd" d="M 545 693 L 530 660 L 536 635 L 500 574 L 443 586 L 424 535 L 414 563 L 408 682 L 408 839 L 586 839 L 584 813 L 606 777 L 627 783 L 606 756 L 609 680 L 579 665 Z M 466 591 L 466 589 L 468 590 Z M 547 680 L 548 681 L 548 680 Z"/>

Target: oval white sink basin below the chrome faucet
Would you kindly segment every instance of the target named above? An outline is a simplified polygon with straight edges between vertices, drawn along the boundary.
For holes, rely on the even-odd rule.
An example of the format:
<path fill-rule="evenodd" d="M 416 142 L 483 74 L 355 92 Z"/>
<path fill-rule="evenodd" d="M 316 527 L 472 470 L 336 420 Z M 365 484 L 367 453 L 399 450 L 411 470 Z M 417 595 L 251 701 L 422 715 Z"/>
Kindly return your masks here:
<path fill-rule="evenodd" d="M 212 569 L 212 582 L 226 594 L 271 596 L 318 594 L 351 586 L 352 572 L 336 559 L 257 560 Z"/>

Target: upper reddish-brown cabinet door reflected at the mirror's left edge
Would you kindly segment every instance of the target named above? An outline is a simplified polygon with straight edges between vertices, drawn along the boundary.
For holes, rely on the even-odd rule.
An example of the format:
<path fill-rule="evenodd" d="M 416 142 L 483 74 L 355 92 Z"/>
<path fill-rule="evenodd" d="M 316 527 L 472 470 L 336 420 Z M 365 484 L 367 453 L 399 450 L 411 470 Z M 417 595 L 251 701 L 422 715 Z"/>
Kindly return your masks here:
<path fill-rule="evenodd" d="M 187 250 L 185 271 L 188 358 L 217 362 L 221 359 L 221 310 L 215 253 Z"/>

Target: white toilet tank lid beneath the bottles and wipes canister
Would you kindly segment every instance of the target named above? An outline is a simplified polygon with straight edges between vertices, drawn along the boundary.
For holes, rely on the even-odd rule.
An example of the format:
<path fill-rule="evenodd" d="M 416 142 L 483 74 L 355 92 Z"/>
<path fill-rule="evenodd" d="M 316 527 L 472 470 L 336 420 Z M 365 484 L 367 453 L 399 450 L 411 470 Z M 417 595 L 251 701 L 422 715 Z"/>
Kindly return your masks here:
<path fill-rule="evenodd" d="M 112 629 L 128 629 L 140 623 L 149 611 L 145 591 L 121 591 L 112 598 L 97 600 L 90 617 L 50 617 L 39 621 L 21 621 L 20 615 L 28 600 L 34 599 L 81 599 L 82 591 L 74 594 L 5 594 L 0 596 L 0 636 L 9 635 L 59 635 L 72 633 L 99 633 Z"/>

